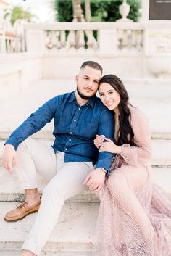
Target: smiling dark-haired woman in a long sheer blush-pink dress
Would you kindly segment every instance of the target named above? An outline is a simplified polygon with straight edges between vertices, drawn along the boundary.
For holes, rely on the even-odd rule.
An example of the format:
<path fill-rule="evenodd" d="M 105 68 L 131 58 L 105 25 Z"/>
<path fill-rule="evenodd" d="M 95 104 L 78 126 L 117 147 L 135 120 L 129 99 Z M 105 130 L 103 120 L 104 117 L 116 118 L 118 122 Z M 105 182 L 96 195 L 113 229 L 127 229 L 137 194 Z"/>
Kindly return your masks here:
<path fill-rule="evenodd" d="M 94 256 L 170 256 L 171 202 L 151 183 L 151 133 L 146 117 L 128 103 L 120 78 L 99 81 L 103 104 L 114 112 L 114 142 L 96 136 L 99 151 L 115 154 L 100 191 Z"/>

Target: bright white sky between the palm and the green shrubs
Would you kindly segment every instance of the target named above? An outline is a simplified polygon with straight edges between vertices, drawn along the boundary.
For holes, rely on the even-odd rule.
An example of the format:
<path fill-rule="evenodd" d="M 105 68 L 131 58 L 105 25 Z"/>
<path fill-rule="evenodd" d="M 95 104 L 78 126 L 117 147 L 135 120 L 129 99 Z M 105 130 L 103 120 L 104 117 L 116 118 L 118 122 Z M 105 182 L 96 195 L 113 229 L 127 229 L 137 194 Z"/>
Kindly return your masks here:
<path fill-rule="evenodd" d="M 38 17 L 36 22 L 54 21 L 54 0 L 5 0 L 12 6 L 20 5 Z"/>

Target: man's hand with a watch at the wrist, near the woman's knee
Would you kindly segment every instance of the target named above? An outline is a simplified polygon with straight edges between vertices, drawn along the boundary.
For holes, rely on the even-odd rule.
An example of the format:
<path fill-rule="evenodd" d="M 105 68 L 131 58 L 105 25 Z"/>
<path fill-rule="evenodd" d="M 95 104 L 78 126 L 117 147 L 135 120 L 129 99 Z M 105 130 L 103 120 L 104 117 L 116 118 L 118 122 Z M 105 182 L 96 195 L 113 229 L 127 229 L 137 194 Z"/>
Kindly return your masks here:
<path fill-rule="evenodd" d="M 99 192 L 104 186 L 106 173 L 101 168 L 92 170 L 91 173 L 86 177 L 84 184 L 86 184 L 89 189 Z"/>

